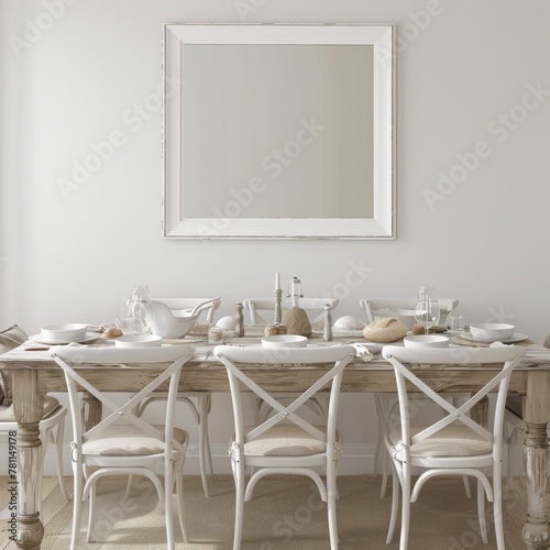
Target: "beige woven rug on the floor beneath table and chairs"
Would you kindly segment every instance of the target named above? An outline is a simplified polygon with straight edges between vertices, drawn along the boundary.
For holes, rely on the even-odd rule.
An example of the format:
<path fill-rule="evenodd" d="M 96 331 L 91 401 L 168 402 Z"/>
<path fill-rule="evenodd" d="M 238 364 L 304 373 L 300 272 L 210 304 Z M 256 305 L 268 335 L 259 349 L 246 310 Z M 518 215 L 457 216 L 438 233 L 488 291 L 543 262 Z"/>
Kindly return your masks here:
<path fill-rule="evenodd" d="M 381 477 L 341 476 L 337 504 L 341 549 L 395 549 L 385 543 L 391 496 L 380 497 Z M 152 484 L 140 479 L 133 495 L 123 501 L 124 479 L 105 479 L 98 485 L 98 515 L 95 540 L 85 543 L 88 506 L 85 503 L 79 548 L 121 550 L 166 548 L 164 509 Z M 472 483 L 472 488 L 473 483 Z M 202 494 L 199 476 L 185 477 L 189 543 L 183 542 L 175 508 L 176 548 L 182 550 L 229 550 L 233 535 L 233 481 L 229 475 L 210 477 L 211 496 Z M 474 492 L 475 493 L 475 492 Z M 389 492 L 388 492 L 389 494 Z M 46 504 L 47 506 L 47 504 Z M 465 550 L 496 548 L 488 506 L 490 543 L 484 544 L 477 530 L 475 498 L 465 496 L 462 480 L 439 479 L 428 483 L 419 502 L 411 507 L 410 550 Z M 267 477 L 261 481 L 254 498 L 244 507 L 243 550 L 328 549 L 326 506 L 315 485 L 302 477 Z M 72 504 L 63 506 L 45 526 L 42 548 L 67 550 L 70 539 Z M 505 513 L 508 550 L 522 550 L 521 526 Z"/>

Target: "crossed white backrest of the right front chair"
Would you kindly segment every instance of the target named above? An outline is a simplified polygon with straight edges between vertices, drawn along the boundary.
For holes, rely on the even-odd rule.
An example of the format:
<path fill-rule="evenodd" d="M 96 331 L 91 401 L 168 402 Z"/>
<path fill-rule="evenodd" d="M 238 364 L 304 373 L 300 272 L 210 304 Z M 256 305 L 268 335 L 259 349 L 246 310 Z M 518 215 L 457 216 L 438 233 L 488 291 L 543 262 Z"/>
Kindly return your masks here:
<path fill-rule="evenodd" d="M 525 356 L 524 348 L 517 345 L 503 345 L 495 348 L 417 349 L 404 348 L 399 345 L 386 345 L 382 350 L 382 354 L 392 363 L 394 367 L 399 398 L 402 437 L 403 441 L 408 442 L 408 448 L 410 448 L 411 444 L 422 441 L 427 437 L 437 433 L 442 428 L 457 422 L 472 428 L 484 440 L 491 442 L 493 444 L 494 453 L 501 452 L 504 406 L 506 403 L 508 384 L 513 370 Z M 407 366 L 411 364 L 496 364 L 499 365 L 499 369 L 495 373 L 495 376 L 480 391 L 472 395 L 464 404 L 454 406 L 453 403 L 446 400 L 443 396 L 439 395 L 428 384 L 416 376 L 415 372 Z M 416 386 L 415 392 L 418 389 L 426 394 L 426 396 L 439 405 L 439 407 L 446 413 L 442 419 L 435 421 L 432 425 L 426 427 L 414 437 L 410 435 L 410 414 L 406 383 Z M 469 415 L 469 411 L 496 387 L 498 387 L 498 389 L 495 415 L 493 427 L 490 431 L 484 426 L 474 421 L 474 419 L 472 419 Z"/>

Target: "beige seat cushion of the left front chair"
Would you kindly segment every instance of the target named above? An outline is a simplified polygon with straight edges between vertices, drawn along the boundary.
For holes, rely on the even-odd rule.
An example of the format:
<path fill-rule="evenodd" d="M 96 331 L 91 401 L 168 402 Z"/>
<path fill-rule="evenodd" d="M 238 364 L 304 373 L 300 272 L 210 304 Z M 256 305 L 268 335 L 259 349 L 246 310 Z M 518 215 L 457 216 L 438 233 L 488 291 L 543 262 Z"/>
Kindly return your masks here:
<path fill-rule="evenodd" d="M 153 428 L 164 432 L 164 426 L 152 425 Z M 179 428 L 174 428 L 174 439 L 182 444 L 187 441 L 188 433 Z M 110 457 L 130 457 L 158 454 L 164 452 L 164 442 L 151 437 L 136 426 L 111 425 L 100 432 L 100 438 L 82 444 L 85 454 L 101 454 Z"/>

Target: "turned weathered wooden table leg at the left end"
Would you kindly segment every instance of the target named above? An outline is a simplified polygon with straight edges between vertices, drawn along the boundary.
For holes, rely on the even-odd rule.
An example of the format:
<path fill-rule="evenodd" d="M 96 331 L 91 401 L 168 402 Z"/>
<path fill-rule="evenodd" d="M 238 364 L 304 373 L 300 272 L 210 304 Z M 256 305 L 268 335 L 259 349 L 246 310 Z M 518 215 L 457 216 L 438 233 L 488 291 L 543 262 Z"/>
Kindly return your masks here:
<path fill-rule="evenodd" d="M 40 549 L 44 527 L 38 515 L 42 484 L 42 443 L 38 422 L 44 396 L 35 371 L 13 371 L 13 415 L 18 421 L 18 536 L 15 544 Z"/>

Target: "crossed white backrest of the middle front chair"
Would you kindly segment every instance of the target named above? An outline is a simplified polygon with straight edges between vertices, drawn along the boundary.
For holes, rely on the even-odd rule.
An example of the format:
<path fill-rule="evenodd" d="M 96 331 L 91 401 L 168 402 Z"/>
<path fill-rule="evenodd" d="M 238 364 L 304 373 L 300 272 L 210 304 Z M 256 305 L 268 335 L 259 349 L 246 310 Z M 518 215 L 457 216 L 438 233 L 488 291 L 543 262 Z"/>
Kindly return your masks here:
<path fill-rule="evenodd" d="M 233 418 L 235 422 L 235 441 L 239 444 L 244 444 L 254 440 L 264 433 L 267 429 L 280 422 L 295 424 L 312 437 L 331 444 L 336 435 L 336 421 L 338 410 L 338 398 L 344 367 L 355 356 L 355 350 L 351 345 L 334 345 L 334 346 L 315 346 L 315 348 L 294 348 L 280 350 L 267 350 L 258 346 L 243 348 L 231 345 L 218 345 L 215 348 L 215 355 L 226 365 L 231 388 L 231 398 L 233 402 Z M 309 370 L 308 382 L 309 387 L 301 394 L 297 394 L 293 403 L 280 403 L 276 396 L 270 394 L 260 383 L 254 382 L 245 370 L 237 366 L 239 364 L 253 365 L 293 365 L 293 364 L 332 364 L 328 371 L 324 369 Z M 284 367 L 283 367 L 284 369 Z M 293 376 L 292 367 L 288 371 L 288 376 Z M 296 375 L 296 374 L 295 374 Z M 263 424 L 254 428 L 252 431 L 244 433 L 244 417 L 242 407 L 241 382 L 246 393 L 251 391 L 263 399 L 274 410 Z M 318 392 L 330 386 L 329 410 L 327 417 L 327 431 L 320 431 L 310 422 L 300 416 L 298 410 L 308 399 L 315 396 Z"/>

